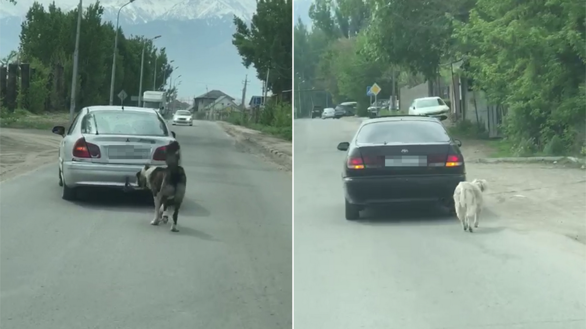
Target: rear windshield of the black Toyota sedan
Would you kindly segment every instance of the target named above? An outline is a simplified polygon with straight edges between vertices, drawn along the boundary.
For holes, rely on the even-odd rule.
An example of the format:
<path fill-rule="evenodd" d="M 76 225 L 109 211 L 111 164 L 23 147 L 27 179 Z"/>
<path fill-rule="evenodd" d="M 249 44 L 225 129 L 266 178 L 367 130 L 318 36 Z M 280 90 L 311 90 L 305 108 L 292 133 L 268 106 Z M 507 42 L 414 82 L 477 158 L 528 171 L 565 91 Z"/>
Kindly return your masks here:
<path fill-rule="evenodd" d="M 450 138 L 440 122 L 382 121 L 362 126 L 356 137 L 360 144 L 378 143 L 434 143 L 449 142 Z"/>

